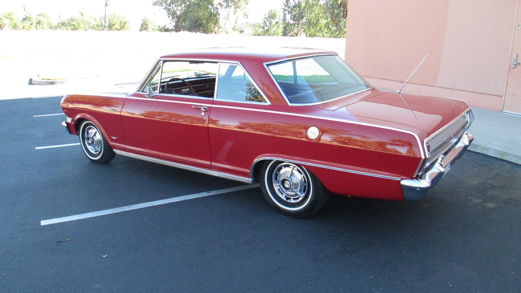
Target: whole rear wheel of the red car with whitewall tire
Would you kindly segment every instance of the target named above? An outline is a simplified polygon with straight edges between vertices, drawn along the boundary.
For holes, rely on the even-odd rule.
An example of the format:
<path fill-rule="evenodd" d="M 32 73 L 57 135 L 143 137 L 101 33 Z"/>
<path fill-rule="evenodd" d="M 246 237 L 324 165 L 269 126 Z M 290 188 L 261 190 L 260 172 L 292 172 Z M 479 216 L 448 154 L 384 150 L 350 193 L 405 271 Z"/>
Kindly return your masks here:
<path fill-rule="evenodd" d="M 303 166 L 283 161 L 264 164 L 261 189 L 277 211 L 294 217 L 309 217 L 326 205 L 329 192 L 318 178 Z"/>

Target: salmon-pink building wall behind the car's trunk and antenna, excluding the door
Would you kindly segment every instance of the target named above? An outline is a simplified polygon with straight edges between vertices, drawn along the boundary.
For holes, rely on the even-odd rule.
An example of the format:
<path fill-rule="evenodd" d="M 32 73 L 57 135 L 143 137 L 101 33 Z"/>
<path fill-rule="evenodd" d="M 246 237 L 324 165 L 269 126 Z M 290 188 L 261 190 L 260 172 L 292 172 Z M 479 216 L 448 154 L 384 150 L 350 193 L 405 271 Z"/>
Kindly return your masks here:
<path fill-rule="evenodd" d="M 519 0 L 350 0 L 345 60 L 376 87 L 502 111 Z M 521 53 L 521 52 L 520 52 Z"/>

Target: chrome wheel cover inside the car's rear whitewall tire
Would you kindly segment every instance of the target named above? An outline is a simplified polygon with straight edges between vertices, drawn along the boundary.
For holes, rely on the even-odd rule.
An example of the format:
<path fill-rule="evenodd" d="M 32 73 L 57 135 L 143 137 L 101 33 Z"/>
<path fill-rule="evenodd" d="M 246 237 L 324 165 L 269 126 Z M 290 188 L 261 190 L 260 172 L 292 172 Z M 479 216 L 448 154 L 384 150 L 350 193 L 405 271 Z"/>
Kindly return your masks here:
<path fill-rule="evenodd" d="M 308 180 L 299 166 L 291 163 L 279 164 L 271 179 L 277 196 L 284 202 L 296 204 L 306 198 Z"/>

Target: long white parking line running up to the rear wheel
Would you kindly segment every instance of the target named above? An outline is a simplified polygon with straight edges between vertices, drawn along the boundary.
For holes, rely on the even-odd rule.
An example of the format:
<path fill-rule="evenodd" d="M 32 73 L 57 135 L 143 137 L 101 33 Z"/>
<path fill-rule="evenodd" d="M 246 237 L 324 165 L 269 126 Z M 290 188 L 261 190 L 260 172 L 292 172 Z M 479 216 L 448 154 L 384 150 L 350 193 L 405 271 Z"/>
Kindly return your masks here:
<path fill-rule="evenodd" d="M 79 214 L 79 215 L 73 215 L 73 216 L 66 216 L 66 217 L 60 217 L 60 218 L 54 218 L 54 219 L 46 219 L 46 220 L 40 221 L 40 226 L 75 221 L 77 219 L 103 216 L 103 215 L 120 213 L 120 212 L 131 211 L 131 210 L 137 210 L 137 209 L 142 209 L 143 207 L 166 204 L 166 203 L 171 203 L 171 202 L 176 202 L 176 201 L 202 198 L 202 197 L 207 197 L 207 196 L 215 196 L 216 194 L 250 189 L 250 188 L 255 188 L 258 186 L 259 185 L 257 183 L 257 184 L 243 185 L 243 186 L 237 186 L 237 187 L 230 187 L 230 188 L 219 189 L 219 190 L 214 190 L 214 191 L 189 194 L 188 196 L 175 197 L 175 198 L 162 199 L 162 200 L 127 205 L 127 206 L 115 207 L 114 209 L 102 210 L 102 211 L 97 211 L 97 212 L 91 212 L 91 213 L 85 213 L 85 214 Z"/>

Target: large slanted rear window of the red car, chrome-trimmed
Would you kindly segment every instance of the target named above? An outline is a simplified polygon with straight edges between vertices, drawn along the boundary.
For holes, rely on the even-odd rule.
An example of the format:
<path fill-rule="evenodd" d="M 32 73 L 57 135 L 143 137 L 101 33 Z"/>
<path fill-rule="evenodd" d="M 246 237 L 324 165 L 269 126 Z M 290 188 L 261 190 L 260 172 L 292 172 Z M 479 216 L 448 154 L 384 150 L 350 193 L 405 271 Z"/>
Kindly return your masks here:
<path fill-rule="evenodd" d="M 314 56 L 268 65 L 291 104 L 313 104 L 372 88 L 337 55 Z"/>

